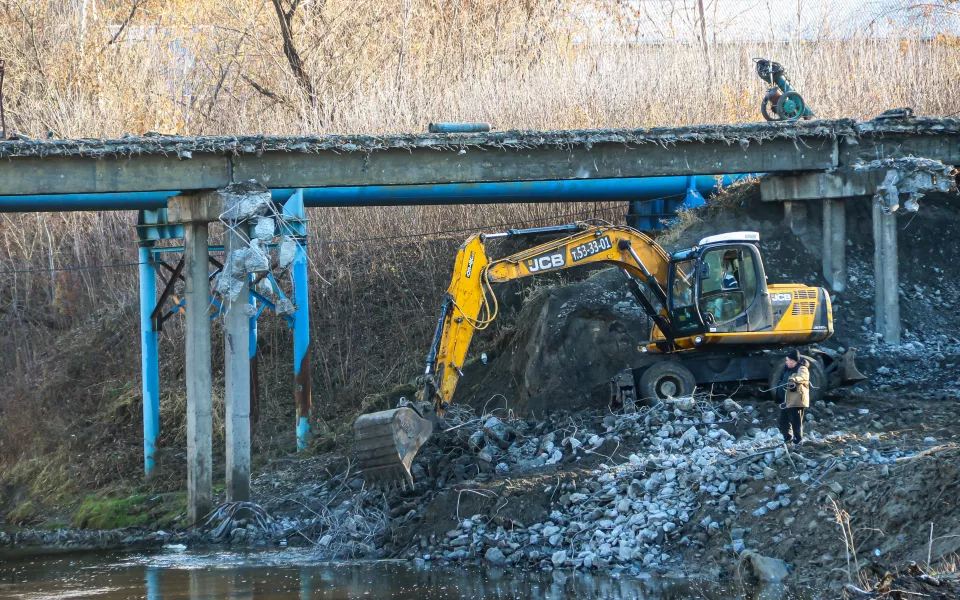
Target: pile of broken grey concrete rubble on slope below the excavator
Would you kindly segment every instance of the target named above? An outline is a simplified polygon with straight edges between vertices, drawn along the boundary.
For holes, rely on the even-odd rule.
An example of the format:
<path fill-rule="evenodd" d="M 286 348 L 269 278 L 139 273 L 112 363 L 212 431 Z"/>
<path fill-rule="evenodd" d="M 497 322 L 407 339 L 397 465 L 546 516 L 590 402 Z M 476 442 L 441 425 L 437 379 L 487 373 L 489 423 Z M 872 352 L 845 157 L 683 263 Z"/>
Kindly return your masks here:
<path fill-rule="evenodd" d="M 731 399 L 715 406 L 679 398 L 632 414 L 607 415 L 599 430 L 574 427 L 562 433 L 545 431 L 547 422 L 523 427 L 520 421 L 514 428 L 490 417 L 469 439 L 479 462 L 496 465 L 498 473 L 604 454 L 601 448 L 609 442 L 643 450 L 622 464 L 604 463 L 579 482 L 544 489 L 556 506 L 547 521 L 504 527 L 491 526 L 484 516 L 462 519 L 445 539 L 421 538 L 421 551 L 414 554 L 447 560 L 482 556 L 495 564 L 544 568 L 669 563 L 668 546 L 693 543 L 682 532 L 704 503 L 713 514 L 699 527 L 719 531 L 741 510 L 737 486 L 772 477 L 769 465 L 785 457 L 776 429 L 750 427 L 739 439 L 730 433 L 738 420 L 759 423 L 753 412 Z M 741 460 L 750 456 L 759 460 Z M 789 506 L 789 491 L 778 486 L 762 510 Z"/>

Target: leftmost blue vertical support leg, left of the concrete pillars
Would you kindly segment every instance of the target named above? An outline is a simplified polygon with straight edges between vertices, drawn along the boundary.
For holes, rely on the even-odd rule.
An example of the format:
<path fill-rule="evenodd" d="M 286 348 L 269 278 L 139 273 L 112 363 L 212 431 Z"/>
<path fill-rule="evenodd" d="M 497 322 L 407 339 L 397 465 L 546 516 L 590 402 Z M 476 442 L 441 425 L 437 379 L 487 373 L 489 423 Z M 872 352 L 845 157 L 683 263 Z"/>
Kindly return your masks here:
<path fill-rule="evenodd" d="M 150 243 L 152 245 L 152 242 Z M 143 470 L 149 478 L 155 472 L 157 440 L 160 437 L 160 362 L 157 332 L 150 314 L 157 304 L 157 273 L 150 245 L 139 249 L 140 263 L 140 347 L 143 385 Z"/>

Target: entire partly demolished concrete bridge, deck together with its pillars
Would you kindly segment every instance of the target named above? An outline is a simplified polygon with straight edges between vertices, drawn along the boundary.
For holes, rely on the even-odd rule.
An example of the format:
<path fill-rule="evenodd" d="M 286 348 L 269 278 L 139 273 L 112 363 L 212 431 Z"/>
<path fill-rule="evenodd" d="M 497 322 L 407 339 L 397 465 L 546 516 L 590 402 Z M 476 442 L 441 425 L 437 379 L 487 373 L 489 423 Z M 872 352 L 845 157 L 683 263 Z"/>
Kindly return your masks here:
<path fill-rule="evenodd" d="M 166 219 L 154 218 L 142 226 L 154 233 L 175 226 L 175 237 L 182 236 L 184 260 L 173 280 L 185 282 L 187 306 L 209 304 L 208 223 L 221 220 L 242 200 L 235 190 L 222 191 L 231 184 L 255 180 L 296 197 L 294 190 L 344 186 L 626 181 L 762 172 L 767 174 L 761 183 L 763 199 L 782 202 L 794 230 L 808 218 L 807 203 L 822 202 L 823 272 L 834 291 L 846 285 L 844 203 L 864 198 L 873 202 L 877 325 L 886 341 L 896 343 L 898 197 L 907 198 L 904 206 L 910 209 L 911 194 L 953 183 L 948 172 L 949 166 L 960 164 L 960 119 L 382 136 L 20 139 L 0 142 L 0 159 L 0 211 L 166 207 Z M 251 187 L 250 194 L 265 191 L 260 190 Z M 303 197 L 300 192 L 299 206 L 285 210 L 285 226 L 294 236 L 303 233 Z M 326 205 L 370 203 L 362 196 L 338 198 Z M 419 202 L 400 197 L 391 203 Z M 239 247 L 241 237 L 231 235 L 228 246 Z M 147 242 L 150 239 L 157 238 Z M 152 261 L 153 254 L 147 258 Z M 151 285 L 146 288 L 151 288 L 148 294 L 155 293 Z M 186 314 L 188 517 L 196 522 L 212 502 L 210 322 L 201 311 Z M 228 311 L 228 339 L 246 340 L 250 322 L 240 318 L 240 311 L 230 315 Z M 151 321 L 143 327 L 150 328 Z M 227 495 L 242 500 L 249 494 L 250 388 L 243 382 L 249 377 L 250 356 L 233 346 L 225 352 Z M 146 390 L 146 367 L 144 379 Z M 144 410 L 146 433 L 146 398 Z M 152 442 L 145 439 L 145 444 L 149 453 Z"/>

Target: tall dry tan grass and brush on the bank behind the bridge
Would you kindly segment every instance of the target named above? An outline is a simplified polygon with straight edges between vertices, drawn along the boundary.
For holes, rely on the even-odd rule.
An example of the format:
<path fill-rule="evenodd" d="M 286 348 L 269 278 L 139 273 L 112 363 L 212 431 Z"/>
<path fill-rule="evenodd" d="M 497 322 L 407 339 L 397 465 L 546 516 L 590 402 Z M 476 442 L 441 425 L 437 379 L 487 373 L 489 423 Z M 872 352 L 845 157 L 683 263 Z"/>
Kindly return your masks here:
<path fill-rule="evenodd" d="M 281 5 L 289 9 L 289 0 Z M 960 76 L 955 39 L 726 44 L 705 55 L 694 45 L 575 43 L 583 24 L 568 10 L 539 0 L 303 2 L 292 42 L 308 93 L 268 2 L 0 1 L 7 127 L 106 137 L 422 131 L 436 120 L 500 129 L 755 121 L 763 85 L 750 59 L 758 55 L 783 61 L 824 117 L 869 118 L 907 105 L 921 114 L 960 110 L 960 98 L 944 91 Z M 336 428 L 364 398 L 419 371 L 464 230 L 573 213 L 622 222 L 623 210 L 310 211 L 318 418 Z M 135 262 L 134 224 L 127 213 L 0 216 L 0 463 L 81 447 L 103 464 L 71 467 L 64 477 L 89 486 L 136 476 L 140 417 L 123 396 L 139 385 L 136 268 L 29 272 Z M 457 232 L 420 235 L 449 230 Z M 178 321 L 161 335 L 163 443 L 174 453 L 182 448 Z M 291 447 L 290 345 L 282 324 L 261 323 L 258 451 Z M 64 432 L 82 441 L 71 445 Z M 126 461 L 123 473 L 118 461 Z"/>

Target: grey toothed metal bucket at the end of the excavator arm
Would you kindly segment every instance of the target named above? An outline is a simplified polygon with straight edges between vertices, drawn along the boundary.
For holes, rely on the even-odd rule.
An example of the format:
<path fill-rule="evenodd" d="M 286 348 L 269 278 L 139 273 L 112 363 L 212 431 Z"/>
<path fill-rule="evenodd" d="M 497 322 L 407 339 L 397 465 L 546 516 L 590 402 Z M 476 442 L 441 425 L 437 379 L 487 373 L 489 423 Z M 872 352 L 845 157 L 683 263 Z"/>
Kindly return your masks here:
<path fill-rule="evenodd" d="M 410 467 L 433 424 L 412 408 L 363 415 L 353 424 L 357 460 L 368 485 L 413 489 Z"/>

